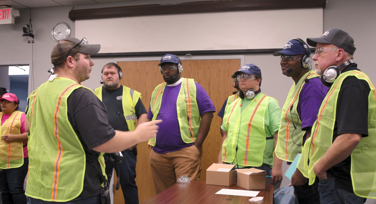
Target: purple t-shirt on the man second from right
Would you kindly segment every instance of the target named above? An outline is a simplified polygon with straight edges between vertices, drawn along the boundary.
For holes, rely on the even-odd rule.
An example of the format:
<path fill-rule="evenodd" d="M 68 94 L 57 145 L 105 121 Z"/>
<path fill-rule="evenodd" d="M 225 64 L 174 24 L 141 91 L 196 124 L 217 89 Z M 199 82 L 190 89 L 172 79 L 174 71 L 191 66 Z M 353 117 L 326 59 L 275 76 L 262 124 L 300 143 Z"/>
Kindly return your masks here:
<path fill-rule="evenodd" d="M 329 87 L 324 86 L 320 78 L 310 79 L 309 83 L 303 85 L 296 108 L 299 119 L 302 120 L 302 130 L 307 131 L 309 127 L 313 126 L 317 119 L 318 109 L 320 109 L 321 103 L 328 91 Z M 303 144 L 306 141 L 307 134 L 308 132 L 303 137 Z M 287 162 L 287 164 L 291 165 L 291 162 Z"/>

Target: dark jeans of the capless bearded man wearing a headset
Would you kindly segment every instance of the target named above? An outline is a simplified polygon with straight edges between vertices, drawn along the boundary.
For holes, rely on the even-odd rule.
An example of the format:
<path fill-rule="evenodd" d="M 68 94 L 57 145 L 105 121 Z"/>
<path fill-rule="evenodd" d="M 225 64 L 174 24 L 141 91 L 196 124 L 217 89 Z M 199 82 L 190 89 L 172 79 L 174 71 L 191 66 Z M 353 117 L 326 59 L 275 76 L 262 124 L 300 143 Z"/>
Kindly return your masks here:
<path fill-rule="evenodd" d="M 105 156 L 106 174 L 108 175 L 107 177 L 110 181 L 112 177 L 112 170 L 115 168 L 116 175 L 120 175 L 120 186 L 121 190 L 123 191 L 125 203 L 138 204 L 138 188 L 135 180 L 137 162 L 136 150 L 125 150 L 121 153 L 123 154 L 125 161 L 115 165 Z M 116 182 L 116 179 L 114 179 L 114 182 Z"/>

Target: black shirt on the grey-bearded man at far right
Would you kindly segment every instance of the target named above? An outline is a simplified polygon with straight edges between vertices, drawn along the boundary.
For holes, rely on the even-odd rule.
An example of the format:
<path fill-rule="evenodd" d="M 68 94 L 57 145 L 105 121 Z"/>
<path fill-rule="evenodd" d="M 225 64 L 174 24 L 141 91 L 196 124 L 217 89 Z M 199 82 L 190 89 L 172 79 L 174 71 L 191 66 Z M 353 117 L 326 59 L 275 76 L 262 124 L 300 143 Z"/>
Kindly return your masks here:
<path fill-rule="evenodd" d="M 347 66 L 343 72 L 352 70 L 358 70 L 356 63 Z M 333 142 L 338 135 L 344 133 L 368 136 L 368 95 L 370 91 L 365 80 L 360 80 L 355 76 L 346 77 L 343 80 L 337 100 Z M 350 169 L 351 156 L 327 170 L 334 177 L 335 187 L 353 192 Z"/>

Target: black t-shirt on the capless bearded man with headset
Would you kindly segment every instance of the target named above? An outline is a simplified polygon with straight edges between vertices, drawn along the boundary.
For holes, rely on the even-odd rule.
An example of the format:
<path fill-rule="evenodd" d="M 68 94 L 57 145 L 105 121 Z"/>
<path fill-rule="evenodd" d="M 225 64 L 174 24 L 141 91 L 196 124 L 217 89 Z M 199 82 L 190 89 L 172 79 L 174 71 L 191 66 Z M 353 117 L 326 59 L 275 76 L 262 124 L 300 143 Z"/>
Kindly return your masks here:
<path fill-rule="evenodd" d="M 102 101 L 107 107 L 108 124 L 111 125 L 114 130 L 129 131 L 126 119 L 124 118 L 123 111 L 123 85 L 115 90 L 108 90 L 102 86 Z M 137 119 L 142 114 L 146 114 L 144 104 L 141 100 L 138 100 L 134 107 Z"/>

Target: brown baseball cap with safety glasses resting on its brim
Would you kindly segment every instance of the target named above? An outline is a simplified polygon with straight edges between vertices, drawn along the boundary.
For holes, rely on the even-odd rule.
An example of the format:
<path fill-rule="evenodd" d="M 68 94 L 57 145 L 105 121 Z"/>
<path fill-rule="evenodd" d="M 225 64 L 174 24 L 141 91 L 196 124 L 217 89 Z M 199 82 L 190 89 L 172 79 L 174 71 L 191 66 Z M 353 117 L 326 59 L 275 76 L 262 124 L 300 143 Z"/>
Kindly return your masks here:
<path fill-rule="evenodd" d="M 77 53 L 96 54 L 100 50 L 100 45 L 89 45 L 86 38 L 64 38 L 56 42 L 51 52 L 51 63 L 53 66 L 59 65 L 67 60 L 68 56 Z"/>

